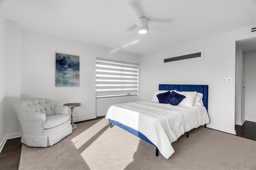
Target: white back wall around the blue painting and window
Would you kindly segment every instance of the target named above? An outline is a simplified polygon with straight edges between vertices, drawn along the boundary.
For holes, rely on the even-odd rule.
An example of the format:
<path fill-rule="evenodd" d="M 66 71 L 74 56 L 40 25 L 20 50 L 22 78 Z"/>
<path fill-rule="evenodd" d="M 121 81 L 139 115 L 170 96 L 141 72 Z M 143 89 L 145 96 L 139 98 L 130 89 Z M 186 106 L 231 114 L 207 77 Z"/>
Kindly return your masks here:
<path fill-rule="evenodd" d="M 72 41 L 22 29 L 20 95 L 27 98 L 49 98 L 60 104 L 79 102 L 74 109 L 74 120 L 96 117 L 95 58 L 106 58 L 139 63 L 138 55 Z M 55 87 L 55 53 L 80 56 L 80 87 Z M 129 96 L 127 96 L 129 98 Z M 109 100 L 97 99 L 97 108 L 108 109 Z M 108 102 L 105 102 L 108 100 Z M 118 98 L 120 100 L 120 98 Z M 122 101 L 122 100 L 121 100 Z M 134 101 L 134 100 L 133 100 Z M 114 103 L 114 102 L 112 102 Z M 106 109 L 107 108 L 107 109 Z M 104 112 L 104 111 L 102 111 Z"/>

